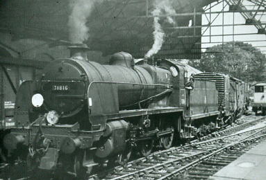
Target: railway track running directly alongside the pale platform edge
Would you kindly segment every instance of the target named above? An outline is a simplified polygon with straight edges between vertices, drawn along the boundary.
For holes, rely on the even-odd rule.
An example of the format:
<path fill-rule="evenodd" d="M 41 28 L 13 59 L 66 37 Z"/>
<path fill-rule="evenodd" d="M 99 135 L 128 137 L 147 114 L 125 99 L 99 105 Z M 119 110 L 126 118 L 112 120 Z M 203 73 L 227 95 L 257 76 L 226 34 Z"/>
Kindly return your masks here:
<path fill-rule="evenodd" d="M 255 134 L 256 133 L 253 135 Z M 251 138 L 243 138 L 240 141 L 230 143 L 225 147 L 211 152 L 210 154 L 202 156 L 199 159 L 188 159 L 188 161 L 181 164 L 181 168 L 178 168 L 177 170 L 174 170 L 173 172 L 170 172 L 158 179 L 208 179 L 219 169 L 228 165 L 228 163 L 231 163 L 252 147 L 255 147 L 260 141 L 265 141 L 265 139 L 265 132 L 264 134 Z"/>

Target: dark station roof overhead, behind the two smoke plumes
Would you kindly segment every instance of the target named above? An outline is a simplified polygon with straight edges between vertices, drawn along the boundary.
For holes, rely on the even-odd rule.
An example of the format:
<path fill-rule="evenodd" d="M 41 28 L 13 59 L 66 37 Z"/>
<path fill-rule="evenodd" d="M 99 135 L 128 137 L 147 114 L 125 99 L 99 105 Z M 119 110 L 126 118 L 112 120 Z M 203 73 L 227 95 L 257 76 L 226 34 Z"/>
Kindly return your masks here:
<path fill-rule="evenodd" d="M 90 0 L 88 0 L 90 1 Z M 86 20 L 89 38 L 85 41 L 92 51 L 109 55 L 117 51 L 143 57 L 153 44 L 153 0 L 94 0 Z M 201 12 L 203 6 L 217 0 L 174 0 L 177 13 Z M 101 2 L 101 3 L 99 3 Z M 2 0 L 0 3 L 0 30 L 16 39 L 42 39 L 51 46 L 69 44 L 69 0 Z M 165 31 L 165 42 L 157 54 L 165 58 L 200 58 L 201 28 L 171 28 L 201 25 L 201 15 L 174 15 L 176 25 L 160 17 Z M 197 21 L 193 21 L 196 19 Z M 197 35 L 197 37 L 192 37 Z M 185 36 L 189 36 L 185 38 Z M 183 37 L 183 38 L 179 38 Z"/>

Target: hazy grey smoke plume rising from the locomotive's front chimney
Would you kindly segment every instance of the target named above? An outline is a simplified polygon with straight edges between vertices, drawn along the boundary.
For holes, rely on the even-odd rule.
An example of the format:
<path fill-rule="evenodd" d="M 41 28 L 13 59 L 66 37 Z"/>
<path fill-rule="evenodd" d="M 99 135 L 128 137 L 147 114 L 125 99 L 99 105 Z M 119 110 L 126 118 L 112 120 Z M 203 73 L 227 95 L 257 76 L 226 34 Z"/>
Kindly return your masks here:
<path fill-rule="evenodd" d="M 94 8 L 94 3 L 95 0 L 73 0 L 70 3 L 70 8 L 72 8 L 68 19 L 70 42 L 83 43 L 88 39 L 89 28 L 86 22 Z"/>

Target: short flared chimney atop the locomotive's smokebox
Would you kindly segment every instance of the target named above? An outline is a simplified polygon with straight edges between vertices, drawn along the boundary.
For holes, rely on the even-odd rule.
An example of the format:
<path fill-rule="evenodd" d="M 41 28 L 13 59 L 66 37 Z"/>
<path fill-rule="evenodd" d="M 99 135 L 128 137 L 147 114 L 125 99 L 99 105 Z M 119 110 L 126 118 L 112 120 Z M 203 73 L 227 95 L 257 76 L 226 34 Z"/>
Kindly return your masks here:
<path fill-rule="evenodd" d="M 69 46 L 70 57 L 76 60 L 88 61 L 87 51 L 90 50 L 86 44 L 73 44 Z"/>

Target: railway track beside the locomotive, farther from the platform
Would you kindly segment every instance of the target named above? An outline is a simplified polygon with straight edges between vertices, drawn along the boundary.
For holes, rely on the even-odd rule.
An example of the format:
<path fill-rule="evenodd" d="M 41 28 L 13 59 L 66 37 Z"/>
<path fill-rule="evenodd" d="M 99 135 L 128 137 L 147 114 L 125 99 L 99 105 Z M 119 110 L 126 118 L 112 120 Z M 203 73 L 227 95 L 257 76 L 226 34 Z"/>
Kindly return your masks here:
<path fill-rule="evenodd" d="M 246 118 L 254 118 L 254 116 Z M 228 147 L 247 141 L 247 139 L 256 136 L 256 134 L 266 132 L 265 127 L 258 127 L 235 133 L 264 119 L 264 117 L 257 117 L 255 120 L 242 125 L 215 132 L 210 136 L 201 138 L 201 141 L 193 141 L 183 147 L 172 147 L 169 150 L 153 153 L 146 158 L 131 161 L 124 166 L 117 166 L 105 177 L 93 176 L 90 179 L 172 179 L 172 177 L 182 173 L 184 170 L 188 170 L 190 165 L 203 161 L 201 157 L 212 156 L 213 152 L 222 152 L 225 149 L 227 150 Z M 263 134 L 263 136 L 266 135 Z M 188 163 L 188 165 L 185 163 Z"/>

